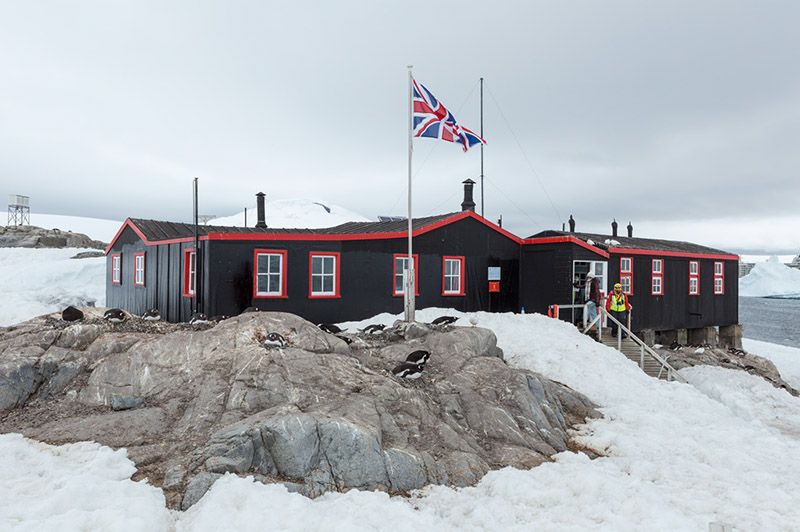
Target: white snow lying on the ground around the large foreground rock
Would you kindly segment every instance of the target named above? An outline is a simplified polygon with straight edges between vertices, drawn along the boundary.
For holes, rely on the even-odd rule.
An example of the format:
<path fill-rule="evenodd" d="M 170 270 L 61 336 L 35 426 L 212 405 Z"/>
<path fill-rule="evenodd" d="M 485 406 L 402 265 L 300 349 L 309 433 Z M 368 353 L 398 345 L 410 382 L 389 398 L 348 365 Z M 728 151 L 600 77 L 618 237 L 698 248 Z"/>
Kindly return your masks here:
<path fill-rule="evenodd" d="M 102 293 L 105 260 L 67 258 L 76 251 L 0 250 L 0 297 L 12 303 L 4 307 L 26 307 L 13 319 L 36 315 L 50 297 Z M 762 280 L 766 292 L 776 292 L 769 283 L 777 278 Z M 722 368 L 682 370 L 690 384 L 658 381 L 568 323 L 539 314 L 424 309 L 417 319 L 442 314 L 458 316 L 457 326 L 476 318 L 495 332 L 509 364 L 597 403 L 603 418 L 580 426 L 575 438 L 604 456 L 564 452 L 532 470 L 506 468 L 474 487 L 433 486 L 410 498 L 353 490 L 310 500 L 227 475 L 187 512 L 171 512 L 159 489 L 130 479 L 134 466 L 124 450 L 87 442 L 52 447 L 6 434 L 0 529 L 626 531 L 707 530 L 709 522 L 798 528 L 800 399 Z M 399 317 L 340 326 L 391 325 Z M 800 349 L 749 339 L 744 347 L 772 359 L 800 387 Z"/>

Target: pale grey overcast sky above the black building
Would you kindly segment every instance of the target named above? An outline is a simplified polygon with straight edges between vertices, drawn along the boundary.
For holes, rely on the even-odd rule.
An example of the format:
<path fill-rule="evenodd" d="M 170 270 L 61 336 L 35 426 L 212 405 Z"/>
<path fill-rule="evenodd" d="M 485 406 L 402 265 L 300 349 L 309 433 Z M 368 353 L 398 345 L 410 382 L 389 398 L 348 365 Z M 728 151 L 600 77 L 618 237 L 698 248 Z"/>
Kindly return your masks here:
<path fill-rule="evenodd" d="M 476 132 L 485 79 L 484 213 L 518 236 L 796 254 L 798 27 L 788 0 L 0 0 L 0 193 L 189 221 L 199 177 L 201 214 L 405 215 L 414 65 Z M 480 150 L 417 139 L 412 168 L 414 216 L 457 211 Z"/>

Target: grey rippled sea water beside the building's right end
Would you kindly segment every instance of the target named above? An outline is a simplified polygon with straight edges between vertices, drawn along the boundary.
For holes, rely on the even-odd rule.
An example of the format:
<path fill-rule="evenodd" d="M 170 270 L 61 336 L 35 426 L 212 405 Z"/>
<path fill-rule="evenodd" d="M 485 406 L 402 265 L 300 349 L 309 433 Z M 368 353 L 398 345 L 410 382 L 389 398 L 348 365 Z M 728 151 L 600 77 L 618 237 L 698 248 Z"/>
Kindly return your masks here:
<path fill-rule="evenodd" d="M 739 298 L 745 338 L 800 348 L 800 299 Z"/>

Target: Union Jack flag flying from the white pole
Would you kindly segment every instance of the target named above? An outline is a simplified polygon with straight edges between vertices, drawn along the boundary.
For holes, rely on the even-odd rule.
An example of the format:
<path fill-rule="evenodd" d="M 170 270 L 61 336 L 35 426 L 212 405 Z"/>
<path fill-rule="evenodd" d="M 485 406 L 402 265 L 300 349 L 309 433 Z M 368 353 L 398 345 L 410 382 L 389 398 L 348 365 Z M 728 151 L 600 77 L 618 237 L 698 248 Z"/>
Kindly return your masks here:
<path fill-rule="evenodd" d="M 415 137 L 432 137 L 461 143 L 464 151 L 486 141 L 456 122 L 456 117 L 424 85 L 413 82 L 413 127 Z"/>

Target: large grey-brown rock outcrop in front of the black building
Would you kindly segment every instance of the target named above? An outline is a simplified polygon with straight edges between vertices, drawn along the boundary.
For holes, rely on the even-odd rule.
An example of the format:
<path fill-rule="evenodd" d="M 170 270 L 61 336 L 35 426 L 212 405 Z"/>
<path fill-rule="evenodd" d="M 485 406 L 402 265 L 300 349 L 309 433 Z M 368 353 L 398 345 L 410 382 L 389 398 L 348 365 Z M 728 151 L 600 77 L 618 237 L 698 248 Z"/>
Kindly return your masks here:
<path fill-rule="evenodd" d="M 581 394 L 509 367 L 480 328 L 397 327 L 351 344 L 282 313 L 214 325 L 93 318 L 26 322 L 0 333 L 3 432 L 127 447 L 140 476 L 188 508 L 225 473 L 308 496 L 352 488 L 467 486 L 569 447 L 597 416 Z M 265 348 L 270 332 L 287 345 Z M 411 351 L 418 381 L 391 375 Z"/>

